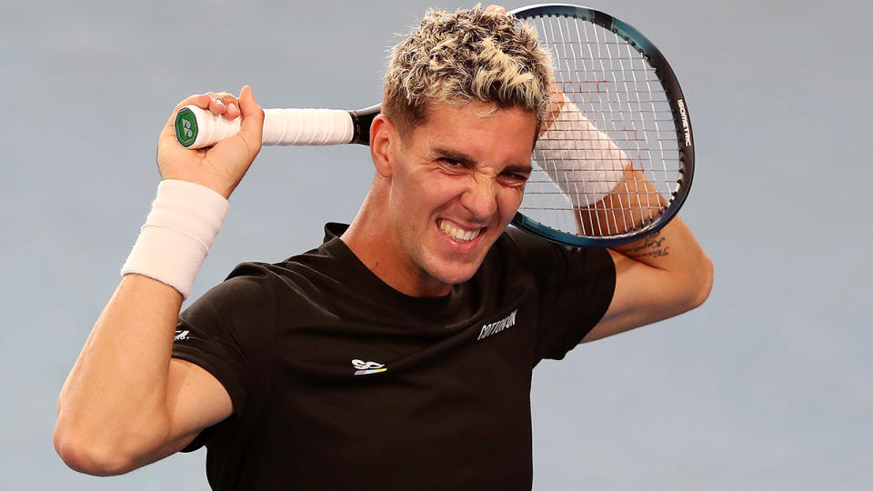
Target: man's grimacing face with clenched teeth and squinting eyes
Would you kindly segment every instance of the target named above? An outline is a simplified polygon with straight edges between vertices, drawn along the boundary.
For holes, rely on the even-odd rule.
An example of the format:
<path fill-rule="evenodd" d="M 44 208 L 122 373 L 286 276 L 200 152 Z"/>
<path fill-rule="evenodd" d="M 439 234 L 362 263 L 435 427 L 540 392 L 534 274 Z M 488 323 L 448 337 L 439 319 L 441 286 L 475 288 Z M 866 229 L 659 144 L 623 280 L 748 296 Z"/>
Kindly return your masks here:
<path fill-rule="evenodd" d="M 388 218 L 413 284 L 445 295 L 476 273 L 521 205 L 536 132 L 523 109 L 432 102 L 392 147 Z"/>

